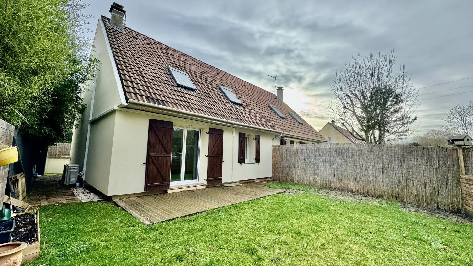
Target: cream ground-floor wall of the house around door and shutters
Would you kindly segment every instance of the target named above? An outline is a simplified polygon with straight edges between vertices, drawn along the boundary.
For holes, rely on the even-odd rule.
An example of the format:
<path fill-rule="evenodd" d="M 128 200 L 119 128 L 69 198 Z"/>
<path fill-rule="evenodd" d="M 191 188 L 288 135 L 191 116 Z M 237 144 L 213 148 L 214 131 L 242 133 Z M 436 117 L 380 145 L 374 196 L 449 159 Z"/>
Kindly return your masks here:
<path fill-rule="evenodd" d="M 113 114 L 113 115 L 112 115 Z M 272 138 L 275 136 L 268 133 L 255 132 L 250 130 L 234 129 L 231 127 L 224 127 L 214 124 L 197 122 L 184 118 L 177 118 L 167 115 L 150 114 L 135 110 L 117 110 L 110 115 L 104 116 L 107 120 L 114 117 L 113 125 L 113 139 L 111 142 L 101 140 L 104 147 L 96 150 L 103 153 L 100 157 L 100 164 L 106 168 L 106 159 L 108 154 L 106 150 L 111 151 L 110 168 L 109 168 L 109 184 L 105 189 L 96 187 L 105 195 L 123 195 L 144 192 L 145 170 L 146 165 L 146 149 L 148 144 L 148 126 L 149 119 L 159 119 L 172 121 L 174 126 L 187 127 L 193 129 L 200 129 L 201 131 L 201 149 L 200 149 L 200 164 L 199 164 L 199 182 L 206 183 L 207 178 L 207 157 L 208 154 L 208 134 L 209 127 L 223 129 L 223 166 L 222 166 L 222 182 L 232 182 L 240 180 L 248 180 L 254 178 L 271 177 L 272 174 Z M 99 120 L 100 121 L 100 120 Z M 95 123 L 94 123 L 95 124 Z M 104 124 L 105 126 L 105 124 Z M 111 126 L 107 122 L 107 126 Z M 99 129 L 99 124 L 94 125 L 97 130 L 105 130 L 103 126 Z M 238 132 L 244 132 L 250 137 L 250 161 L 254 162 L 255 144 L 254 135 L 261 136 L 261 162 L 258 163 L 238 163 Z M 106 136 L 110 137 L 110 133 Z M 98 137 L 94 134 L 93 136 Z M 107 138 L 108 138 L 107 137 Z M 92 138 L 92 135 L 91 135 Z M 106 142 L 106 143 L 105 143 Z M 95 145 L 95 144 L 94 144 Z M 108 147 L 112 145 L 112 147 Z M 107 147 L 105 147 L 107 146 Z M 92 155 L 93 154 L 93 155 Z M 89 156 L 96 161 L 98 154 L 89 151 Z M 90 168 L 89 168 L 90 166 Z M 97 163 L 98 166 L 98 163 Z M 98 180 L 98 176 L 107 176 L 107 169 L 98 171 L 98 168 L 92 167 L 92 163 L 88 163 L 88 177 L 87 179 L 94 180 L 94 184 L 104 186 Z M 93 169 L 92 169 L 93 168 Z M 89 177 L 90 175 L 90 177 Z M 101 177 L 101 181 L 105 181 L 106 177 Z M 94 184 L 89 184 L 95 186 Z"/>

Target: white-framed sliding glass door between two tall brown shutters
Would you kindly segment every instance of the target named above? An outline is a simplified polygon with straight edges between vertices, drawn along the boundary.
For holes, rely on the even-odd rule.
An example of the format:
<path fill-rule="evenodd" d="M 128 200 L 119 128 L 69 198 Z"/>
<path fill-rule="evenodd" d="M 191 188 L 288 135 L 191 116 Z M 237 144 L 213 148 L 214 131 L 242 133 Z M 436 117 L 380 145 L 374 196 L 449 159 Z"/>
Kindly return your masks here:
<path fill-rule="evenodd" d="M 171 185 L 198 181 L 200 131 L 173 128 L 171 155 Z"/>

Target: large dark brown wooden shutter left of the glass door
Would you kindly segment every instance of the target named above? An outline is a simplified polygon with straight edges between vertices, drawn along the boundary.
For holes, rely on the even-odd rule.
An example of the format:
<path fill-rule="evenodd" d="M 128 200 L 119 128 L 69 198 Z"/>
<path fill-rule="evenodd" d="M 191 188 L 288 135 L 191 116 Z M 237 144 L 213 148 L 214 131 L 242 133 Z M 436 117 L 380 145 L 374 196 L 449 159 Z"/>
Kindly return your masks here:
<path fill-rule="evenodd" d="M 173 122 L 149 119 L 145 191 L 169 189 Z"/>

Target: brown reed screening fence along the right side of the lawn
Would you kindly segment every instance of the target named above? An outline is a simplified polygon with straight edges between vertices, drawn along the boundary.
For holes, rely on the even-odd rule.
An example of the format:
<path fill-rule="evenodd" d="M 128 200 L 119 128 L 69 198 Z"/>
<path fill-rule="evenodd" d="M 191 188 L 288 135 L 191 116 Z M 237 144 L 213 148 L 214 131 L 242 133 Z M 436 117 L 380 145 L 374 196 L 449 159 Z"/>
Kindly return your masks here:
<path fill-rule="evenodd" d="M 450 147 L 292 144 L 272 148 L 272 179 L 459 212 L 458 152 Z"/>

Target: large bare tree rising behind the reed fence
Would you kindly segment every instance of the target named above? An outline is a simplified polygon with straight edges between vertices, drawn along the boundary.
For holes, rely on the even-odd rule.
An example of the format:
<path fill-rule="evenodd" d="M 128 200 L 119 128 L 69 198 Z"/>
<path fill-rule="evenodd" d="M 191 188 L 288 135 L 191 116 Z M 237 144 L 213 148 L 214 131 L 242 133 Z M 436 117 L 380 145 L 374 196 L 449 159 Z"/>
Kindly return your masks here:
<path fill-rule="evenodd" d="M 417 120 L 412 114 L 418 89 L 412 88 L 404 65 L 394 69 L 395 61 L 394 51 L 364 58 L 358 54 L 333 75 L 331 116 L 368 144 L 403 139 Z"/>

